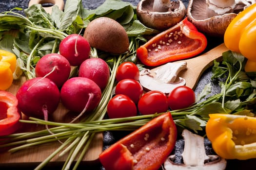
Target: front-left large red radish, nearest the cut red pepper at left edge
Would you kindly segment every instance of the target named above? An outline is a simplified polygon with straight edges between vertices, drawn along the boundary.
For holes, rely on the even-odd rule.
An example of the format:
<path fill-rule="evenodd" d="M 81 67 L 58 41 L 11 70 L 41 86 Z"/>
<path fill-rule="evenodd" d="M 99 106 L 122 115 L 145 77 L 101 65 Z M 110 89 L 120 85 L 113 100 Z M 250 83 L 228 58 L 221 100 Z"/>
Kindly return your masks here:
<path fill-rule="evenodd" d="M 59 105 L 59 88 L 48 78 L 37 77 L 20 86 L 16 97 L 18 108 L 26 115 L 48 119 Z"/>

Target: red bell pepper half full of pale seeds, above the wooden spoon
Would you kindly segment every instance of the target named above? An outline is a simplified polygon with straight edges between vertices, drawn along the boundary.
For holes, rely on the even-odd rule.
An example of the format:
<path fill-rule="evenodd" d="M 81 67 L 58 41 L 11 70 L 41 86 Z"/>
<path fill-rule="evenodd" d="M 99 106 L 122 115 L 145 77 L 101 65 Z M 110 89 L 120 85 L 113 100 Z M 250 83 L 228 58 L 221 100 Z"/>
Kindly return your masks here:
<path fill-rule="evenodd" d="M 205 35 L 198 32 L 186 17 L 140 46 L 137 56 L 146 66 L 158 66 L 196 56 L 204 51 L 206 46 Z"/>

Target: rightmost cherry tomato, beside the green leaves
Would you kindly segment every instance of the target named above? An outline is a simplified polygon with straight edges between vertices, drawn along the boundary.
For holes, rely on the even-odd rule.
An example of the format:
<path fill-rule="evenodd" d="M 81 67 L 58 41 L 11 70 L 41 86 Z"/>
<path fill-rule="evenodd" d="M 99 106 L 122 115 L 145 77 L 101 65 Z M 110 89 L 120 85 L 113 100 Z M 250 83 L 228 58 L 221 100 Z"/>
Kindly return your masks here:
<path fill-rule="evenodd" d="M 178 86 L 168 95 L 168 105 L 172 110 L 183 109 L 196 102 L 195 92 L 188 86 Z"/>

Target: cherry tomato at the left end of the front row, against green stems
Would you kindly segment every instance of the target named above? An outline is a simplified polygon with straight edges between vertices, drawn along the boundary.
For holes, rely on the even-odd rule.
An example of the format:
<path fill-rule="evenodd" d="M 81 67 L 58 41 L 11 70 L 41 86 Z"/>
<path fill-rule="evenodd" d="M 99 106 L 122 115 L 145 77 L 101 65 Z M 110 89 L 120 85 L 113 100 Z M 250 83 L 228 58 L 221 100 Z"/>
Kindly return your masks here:
<path fill-rule="evenodd" d="M 108 102 L 107 114 L 110 119 L 136 116 L 137 107 L 128 96 L 118 94 Z"/>

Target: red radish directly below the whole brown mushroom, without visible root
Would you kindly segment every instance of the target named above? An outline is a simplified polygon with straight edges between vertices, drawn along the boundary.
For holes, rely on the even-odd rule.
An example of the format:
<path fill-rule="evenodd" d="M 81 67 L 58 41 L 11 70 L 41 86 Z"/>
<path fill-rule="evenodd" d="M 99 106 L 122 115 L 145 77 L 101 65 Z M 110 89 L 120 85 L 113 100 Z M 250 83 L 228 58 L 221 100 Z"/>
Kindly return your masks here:
<path fill-rule="evenodd" d="M 79 77 L 93 80 L 103 90 L 110 77 L 108 64 L 101 58 L 89 58 L 80 65 Z"/>

